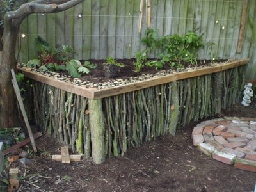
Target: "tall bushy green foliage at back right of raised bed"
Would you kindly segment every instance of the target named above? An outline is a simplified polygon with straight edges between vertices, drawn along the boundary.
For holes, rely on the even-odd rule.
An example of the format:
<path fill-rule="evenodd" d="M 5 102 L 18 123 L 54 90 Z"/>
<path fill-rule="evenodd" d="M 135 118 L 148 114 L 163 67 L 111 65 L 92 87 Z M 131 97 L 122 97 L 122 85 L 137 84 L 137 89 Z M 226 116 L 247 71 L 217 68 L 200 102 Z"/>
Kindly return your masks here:
<path fill-rule="evenodd" d="M 177 63 L 177 67 L 184 62 L 196 65 L 198 49 L 204 45 L 202 36 L 198 36 L 193 31 L 189 31 L 184 36 L 174 34 L 158 38 L 157 31 L 150 28 L 145 32 L 142 42 L 147 46 L 149 52 L 158 52 L 159 61 L 147 63 L 148 67 L 156 68 L 163 68 L 164 63 L 172 63 L 172 66 L 173 63 Z M 138 63 L 138 68 L 140 68 L 140 63 Z"/>

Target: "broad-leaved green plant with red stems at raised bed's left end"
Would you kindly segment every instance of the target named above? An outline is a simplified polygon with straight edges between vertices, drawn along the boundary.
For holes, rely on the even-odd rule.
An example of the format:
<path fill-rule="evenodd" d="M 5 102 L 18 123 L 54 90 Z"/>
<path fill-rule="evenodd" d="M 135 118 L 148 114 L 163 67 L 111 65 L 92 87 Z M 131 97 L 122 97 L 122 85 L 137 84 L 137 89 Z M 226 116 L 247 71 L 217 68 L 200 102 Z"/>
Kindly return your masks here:
<path fill-rule="evenodd" d="M 74 49 L 69 45 L 62 45 L 62 49 L 58 50 L 40 36 L 36 37 L 35 43 L 39 56 L 38 59 L 29 60 L 27 67 L 39 67 L 42 71 L 67 70 L 72 77 L 81 77 L 81 74 L 90 72 L 79 60 L 71 58 L 70 54 Z"/>

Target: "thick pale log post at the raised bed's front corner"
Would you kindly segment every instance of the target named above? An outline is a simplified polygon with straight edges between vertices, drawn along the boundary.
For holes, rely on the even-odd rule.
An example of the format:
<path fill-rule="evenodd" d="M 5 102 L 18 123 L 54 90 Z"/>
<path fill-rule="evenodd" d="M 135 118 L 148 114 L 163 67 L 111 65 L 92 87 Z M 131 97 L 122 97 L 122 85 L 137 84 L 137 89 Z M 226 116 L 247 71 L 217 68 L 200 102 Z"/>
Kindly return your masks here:
<path fill-rule="evenodd" d="M 105 123 L 104 114 L 102 111 L 101 99 L 89 99 L 89 118 L 90 118 L 90 131 L 92 138 L 92 157 L 96 164 L 103 163 L 106 159 L 105 154 Z"/>

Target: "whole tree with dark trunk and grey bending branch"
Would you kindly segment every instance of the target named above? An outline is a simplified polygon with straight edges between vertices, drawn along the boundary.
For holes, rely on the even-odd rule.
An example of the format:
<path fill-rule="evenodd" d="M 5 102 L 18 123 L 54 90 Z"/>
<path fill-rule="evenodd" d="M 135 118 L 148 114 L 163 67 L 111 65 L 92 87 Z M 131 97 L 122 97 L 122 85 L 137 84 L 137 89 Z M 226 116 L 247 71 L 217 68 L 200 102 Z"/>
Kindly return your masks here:
<path fill-rule="evenodd" d="M 32 13 L 56 13 L 84 0 L 37 0 L 22 4 L 4 15 L 3 53 L 0 52 L 0 129 L 20 125 L 10 70 L 16 68 L 15 49 L 22 21 Z M 1 56 L 2 55 L 2 56 Z"/>

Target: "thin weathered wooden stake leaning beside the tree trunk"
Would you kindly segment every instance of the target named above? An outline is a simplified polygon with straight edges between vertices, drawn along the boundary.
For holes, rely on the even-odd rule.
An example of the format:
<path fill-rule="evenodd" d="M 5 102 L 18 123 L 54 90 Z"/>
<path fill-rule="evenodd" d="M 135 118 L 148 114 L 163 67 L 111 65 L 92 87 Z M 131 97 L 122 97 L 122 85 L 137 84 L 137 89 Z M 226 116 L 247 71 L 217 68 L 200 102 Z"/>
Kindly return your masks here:
<path fill-rule="evenodd" d="M 23 104 L 23 101 L 22 101 L 22 98 L 21 98 L 21 95 L 20 95 L 20 90 L 19 90 L 19 86 L 18 86 L 16 77 L 15 77 L 14 70 L 11 69 L 11 72 L 12 72 L 12 77 L 13 77 L 12 84 L 13 84 L 13 88 L 14 88 L 17 100 L 19 102 L 20 111 L 23 115 L 24 122 L 26 124 L 27 129 L 28 129 L 28 134 L 29 134 L 29 138 L 30 138 L 31 143 L 32 143 L 33 150 L 36 153 L 37 149 L 36 149 L 36 145 L 35 145 L 35 140 L 34 140 L 34 137 L 33 137 L 33 133 L 31 131 L 31 127 L 30 127 L 29 122 L 28 122 L 28 116 L 26 115 L 26 111 L 25 111 L 24 104 Z"/>

